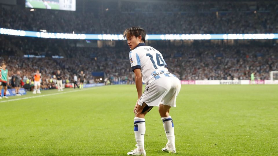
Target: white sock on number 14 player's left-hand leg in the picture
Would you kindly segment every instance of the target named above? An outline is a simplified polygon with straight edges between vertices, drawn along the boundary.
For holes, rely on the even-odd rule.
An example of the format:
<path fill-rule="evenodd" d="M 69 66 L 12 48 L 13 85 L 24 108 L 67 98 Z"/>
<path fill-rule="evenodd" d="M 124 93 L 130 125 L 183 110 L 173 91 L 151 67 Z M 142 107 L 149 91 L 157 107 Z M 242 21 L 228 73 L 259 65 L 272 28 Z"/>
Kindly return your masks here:
<path fill-rule="evenodd" d="M 134 117 L 134 134 L 138 151 L 144 151 L 144 136 L 146 131 L 145 119 Z"/>

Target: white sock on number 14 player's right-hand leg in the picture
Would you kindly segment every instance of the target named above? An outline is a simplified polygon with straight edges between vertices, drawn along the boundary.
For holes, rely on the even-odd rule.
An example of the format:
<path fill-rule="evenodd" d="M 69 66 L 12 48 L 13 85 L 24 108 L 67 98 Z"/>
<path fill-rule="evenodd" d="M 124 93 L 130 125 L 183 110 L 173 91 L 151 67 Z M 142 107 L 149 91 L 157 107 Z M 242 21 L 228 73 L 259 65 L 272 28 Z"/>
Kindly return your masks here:
<path fill-rule="evenodd" d="M 161 118 L 163 122 L 163 127 L 166 133 L 166 137 L 168 139 L 169 148 L 175 147 L 175 133 L 174 133 L 174 124 L 171 116 Z"/>

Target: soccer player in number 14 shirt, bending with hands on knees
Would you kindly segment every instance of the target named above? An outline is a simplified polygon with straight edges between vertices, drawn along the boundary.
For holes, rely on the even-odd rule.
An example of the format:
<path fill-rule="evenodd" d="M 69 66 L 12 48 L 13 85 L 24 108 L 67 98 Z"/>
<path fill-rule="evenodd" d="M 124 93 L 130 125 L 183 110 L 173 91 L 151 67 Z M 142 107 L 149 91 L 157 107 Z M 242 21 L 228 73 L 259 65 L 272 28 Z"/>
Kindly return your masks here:
<path fill-rule="evenodd" d="M 135 74 L 135 84 L 138 100 L 134 107 L 134 134 L 136 146 L 127 155 L 146 155 L 144 149 L 145 115 L 153 106 L 158 106 L 163 127 L 167 137 L 167 144 L 162 151 L 176 153 L 174 125 L 169 110 L 176 107 L 176 97 L 180 92 L 180 80 L 168 71 L 161 53 L 145 45 L 146 32 L 140 27 L 125 30 L 123 36 L 131 51 L 129 60 Z M 142 82 L 146 84 L 142 94 Z"/>

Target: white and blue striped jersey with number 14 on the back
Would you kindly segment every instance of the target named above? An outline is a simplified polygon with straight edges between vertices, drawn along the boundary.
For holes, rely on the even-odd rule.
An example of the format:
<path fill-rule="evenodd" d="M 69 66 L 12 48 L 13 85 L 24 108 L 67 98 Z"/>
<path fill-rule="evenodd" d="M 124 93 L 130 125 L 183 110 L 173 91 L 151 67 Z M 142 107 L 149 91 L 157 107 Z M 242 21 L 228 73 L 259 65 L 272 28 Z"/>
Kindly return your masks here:
<path fill-rule="evenodd" d="M 129 52 L 129 60 L 132 71 L 141 69 L 142 81 L 146 84 L 160 77 L 176 77 L 169 73 L 161 53 L 153 47 L 146 46 L 145 43 L 139 43 Z"/>

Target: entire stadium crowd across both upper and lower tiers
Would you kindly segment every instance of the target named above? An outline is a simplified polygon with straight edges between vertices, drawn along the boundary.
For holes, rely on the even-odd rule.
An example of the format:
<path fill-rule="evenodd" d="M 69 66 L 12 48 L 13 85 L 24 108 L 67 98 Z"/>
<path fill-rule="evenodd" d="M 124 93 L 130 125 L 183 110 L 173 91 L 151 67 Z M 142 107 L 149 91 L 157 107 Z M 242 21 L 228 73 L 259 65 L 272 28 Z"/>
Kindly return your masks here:
<path fill-rule="evenodd" d="M 142 25 L 147 34 L 252 34 L 277 33 L 278 29 L 278 4 L 272 1 L 122 1 L 98 2 L 94 7 L 98 10 L 72 12 L 30 11 L 20 6 L 0 5 L 0 27 L 83 34 L 122 34 L 125 28 L 134 25 Z M 278 70 L 277 45 L 184 47 L 161 46 L 161 42 L 154 48 L 162 53 L 170 72 L 181 80 L 250 79 L 252 72 L 257 79 L 269 79 L 269 72 Z M 72 82 L 73 74 L 81 70 L 91 83 L 96 81 L 91 76 L 94 71 L 104 72 L 111 82 L 133 82 L 128 52 L 127 46 L 75 47 L 65 40 L 0 36 L 0 62 L 6 62 L 10 80 L 20 70 L 22 81 L 32 84 L 33 73 L 39 69 L 42 88 L 54 88 L 53 75 L 58 69 L 65 82 Z M 45 58 L 25 58 L 25 54 Z M 52 58 L 53 55 L 65 58 Z"/>

